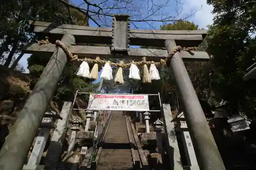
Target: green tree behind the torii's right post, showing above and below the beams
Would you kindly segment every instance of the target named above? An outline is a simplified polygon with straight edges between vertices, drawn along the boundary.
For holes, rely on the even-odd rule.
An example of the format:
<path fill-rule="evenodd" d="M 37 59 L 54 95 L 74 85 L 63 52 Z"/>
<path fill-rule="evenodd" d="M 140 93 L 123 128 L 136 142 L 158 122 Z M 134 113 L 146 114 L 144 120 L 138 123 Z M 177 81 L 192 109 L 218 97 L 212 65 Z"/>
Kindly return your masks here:
<path fill-rule="evenodd" d="M 200 30 L 198 25 L 190 21 L 175 21 L 173 23 L 168 23 L 167 25 L 160 26 L 161 30 Z M 204 50 L 205 43 L 202 43 L 202 47 L 200 50 Z M 158 48 L 162 47 L 146 47 L 142 48 Z M 184 64 L 187 68 L 189 77 L 194 85 L 194 88 L 198 94 L 198 97 L 201 101 L 202 107 L 205 112 L 210 112 L 208 103 L 211 102 L 211 90 L 210 90 L 210 77 L 209 77 L 209 68 L 210 65 L 207 62 L 188 62 L 184 61 Z M 175 90 L 174 80 L 170 74 L 170 70 L 168 68 L 161 67 L 159 69 L 159 74 L 161 80 L 153 81 L 152 84 L 144 85 L 140 84 L 138 88 L 138 93 L 157 93 L 160 92 L 162 96 L 163 103 L 170 103 L 172 109 L 179 109 L 180 104 L 177 96 L 177 92 Z M 154 102 L 153 102 L 154 103 Z M 203 104 L 204 103 L 204 104 Z M 207 111 L 206 111 L 207 110 Z"/>

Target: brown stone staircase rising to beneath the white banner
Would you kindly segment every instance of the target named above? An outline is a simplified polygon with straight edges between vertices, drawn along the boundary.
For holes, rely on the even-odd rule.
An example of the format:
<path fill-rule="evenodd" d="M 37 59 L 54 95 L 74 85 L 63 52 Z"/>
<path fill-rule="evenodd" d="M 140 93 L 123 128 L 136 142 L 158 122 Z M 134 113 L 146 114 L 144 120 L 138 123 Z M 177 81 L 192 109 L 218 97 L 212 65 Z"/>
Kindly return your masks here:
<path fill-rule="evenodd" d="M 98 170 L 133 169 L 133 161 L 125 115 L 121 111 L 113 111 L 112 118 L 97 164 Z"/>

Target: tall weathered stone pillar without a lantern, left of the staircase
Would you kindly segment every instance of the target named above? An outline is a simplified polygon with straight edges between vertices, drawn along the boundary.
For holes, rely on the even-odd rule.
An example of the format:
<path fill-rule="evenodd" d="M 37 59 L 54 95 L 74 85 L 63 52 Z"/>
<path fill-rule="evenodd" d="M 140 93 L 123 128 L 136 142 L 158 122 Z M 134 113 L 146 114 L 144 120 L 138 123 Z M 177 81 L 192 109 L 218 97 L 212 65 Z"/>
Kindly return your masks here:
<path fill-rule="evenodd" d="M 54 170 L 58 164 L 62 142 L 67 132 L 68 117 L 73 109 L 72 102 L 64 102 L 60 112 L 62 119 L 57 120 L 56 129 L 52 135 L 52 139 L 46 155 L 46 169 Z"/>

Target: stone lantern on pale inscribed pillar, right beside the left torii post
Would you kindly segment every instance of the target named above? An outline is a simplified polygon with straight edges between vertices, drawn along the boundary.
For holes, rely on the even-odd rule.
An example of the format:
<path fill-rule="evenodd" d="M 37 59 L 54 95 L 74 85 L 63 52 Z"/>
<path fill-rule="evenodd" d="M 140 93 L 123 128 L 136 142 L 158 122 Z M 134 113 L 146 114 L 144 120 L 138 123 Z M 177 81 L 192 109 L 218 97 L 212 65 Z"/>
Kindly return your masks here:
<path fill-rule="evenodd" d="M 44 153 L 47 139 L 50 134 L 50 130 L 54 128 L 55 117 L 54 114 L 56 112 L 46 112 L 44 118 L 42 118 L 42 122 L 40 125 L 40 131 L 38 136 L 36 137 L 34 148 L 29 157 L 28 164 L 23 166 L 23 169 L 44 169 L 44 165 L 39 165 L 42 154 Z"/>

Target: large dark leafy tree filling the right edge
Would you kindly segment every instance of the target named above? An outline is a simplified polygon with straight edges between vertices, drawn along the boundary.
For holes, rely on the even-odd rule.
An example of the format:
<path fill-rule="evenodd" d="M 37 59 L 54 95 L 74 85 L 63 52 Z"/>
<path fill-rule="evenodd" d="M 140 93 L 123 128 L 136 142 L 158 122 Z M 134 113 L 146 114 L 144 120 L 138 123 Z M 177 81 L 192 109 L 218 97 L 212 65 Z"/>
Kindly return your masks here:
<path fill-rule="evenodd" d="M 207 52 L 212 56 L 216 99 L 229 103 L 231 114 L 255 113 L 255 82 L 242 80 L 245 70 L 255 62 L 254 1 L 207 1 L 216 15 L 210 27 Z"/>

